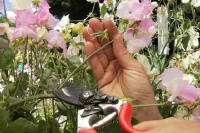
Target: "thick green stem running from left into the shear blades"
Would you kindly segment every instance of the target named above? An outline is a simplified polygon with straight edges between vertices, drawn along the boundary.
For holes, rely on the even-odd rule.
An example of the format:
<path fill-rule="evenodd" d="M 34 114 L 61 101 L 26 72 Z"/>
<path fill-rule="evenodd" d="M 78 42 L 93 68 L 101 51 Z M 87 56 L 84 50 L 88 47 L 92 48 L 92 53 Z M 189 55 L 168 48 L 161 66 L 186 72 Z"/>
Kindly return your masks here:
<path fill-rule="evenodd" d="M 40 95 L 36 95 L 36 96 L 31 96 L 31 97 L 28 97 L 26 99 L 22 99 L 22 100 L 19 100 L 19 101 L 16 101 L 16 102 L 10 104 L 8 106 L 8 108 L 15 107 L 17 105 L 23 104 L 23 103 L 28 102 L 28 101 L 33 101 L 33 100 L 36 100 L 36 99 L 46 99 L 46 98 L 55 98 L 55 96 L 53 94 L 40 94 Z"/>

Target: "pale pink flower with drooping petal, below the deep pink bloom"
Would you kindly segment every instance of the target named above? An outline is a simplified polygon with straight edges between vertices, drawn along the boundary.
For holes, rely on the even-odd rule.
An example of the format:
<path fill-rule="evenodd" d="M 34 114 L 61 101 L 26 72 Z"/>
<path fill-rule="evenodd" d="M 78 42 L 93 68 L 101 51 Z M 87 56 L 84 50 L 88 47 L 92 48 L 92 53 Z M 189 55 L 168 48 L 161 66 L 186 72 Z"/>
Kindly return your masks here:
<path fill-rule="evenodd" d="M 66 41 L 64 40 L 64 37 L 62 33 L 51 30 L 46 36 L 46 40 L 48 41 L 48 47 L 61 47 L 63 49 L 63 53 L 66 57 Z"/>

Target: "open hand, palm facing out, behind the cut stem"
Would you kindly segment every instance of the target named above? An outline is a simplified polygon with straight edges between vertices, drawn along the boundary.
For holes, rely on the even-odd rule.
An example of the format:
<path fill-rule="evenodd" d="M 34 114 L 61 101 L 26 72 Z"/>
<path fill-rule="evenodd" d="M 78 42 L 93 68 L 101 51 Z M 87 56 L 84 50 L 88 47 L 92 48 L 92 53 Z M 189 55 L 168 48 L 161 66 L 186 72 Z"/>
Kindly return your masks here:
<path fill-rule="evenodd" d="M 109 38 L 94 38 L 93 33 L 108 31 Z M 136 99 L 137 104 L 155 103 L 153 89 L 143 66 L 128 53 L 123 39 L 111 20 L 90 19 L 89 26 L 83 29 L 86 40 L 84 50 L 89 56 L 107 42 L 114 42 L 90 58 L 89 62 L 97 80 L 99 91 L 118 97 Z M 134 117 L 139 121 L 160 119 L 156 107 L 135 110 Z"/>

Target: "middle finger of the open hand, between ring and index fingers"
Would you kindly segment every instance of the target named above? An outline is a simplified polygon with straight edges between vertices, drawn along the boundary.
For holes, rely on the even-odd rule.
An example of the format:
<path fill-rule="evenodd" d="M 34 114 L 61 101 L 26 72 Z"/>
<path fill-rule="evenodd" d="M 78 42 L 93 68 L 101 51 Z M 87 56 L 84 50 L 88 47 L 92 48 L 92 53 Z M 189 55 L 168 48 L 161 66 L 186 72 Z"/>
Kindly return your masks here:
<path fill-rule="evenodd" d="M 105 30 L 103 24 L 96 18 L 90 19 L 89 26 L 96 33 L 103 32 Z M 110 41 L 109 38 L 105 39 L 103 37 L 97 37 L 97 40 L 98 40 L 99 44 L 101 44 L 101 46 L 105 45 L 106 43 L 108 43 Z M 114 59 L 114 54 L 113 54 L 111 45 L 104 49 L 104 53 L 106 54 L 108 60 Z"/>

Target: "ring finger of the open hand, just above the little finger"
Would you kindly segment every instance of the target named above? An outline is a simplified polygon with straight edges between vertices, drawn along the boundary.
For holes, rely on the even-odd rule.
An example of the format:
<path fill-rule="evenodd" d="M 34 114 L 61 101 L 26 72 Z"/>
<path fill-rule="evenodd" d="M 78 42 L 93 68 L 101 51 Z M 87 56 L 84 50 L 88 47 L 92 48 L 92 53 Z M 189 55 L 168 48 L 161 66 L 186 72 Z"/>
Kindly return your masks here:
<path fill-rule="evenodd" d="M 95 51 L 98 48 L 100 48 L 101 45 L 98 43 L 97 39 L 91 35 L 93 33 L 94 32 L 90 27 L 85 27 L 83 29 L 83 36 L 84 36 L 85 40 L 92 42 L 92 44 L 94 45 L 94 51 Z M 94 51 L 92 51 L 92 52 L 94 52 Z M 99 58 L 99 61 L 102 64 L 103 68 L 106 68 L 108 66 L 108 58 L 104 54 L 104 51 L 100 51 L 99 53 L 97 53 L 97 58 Z"/>

